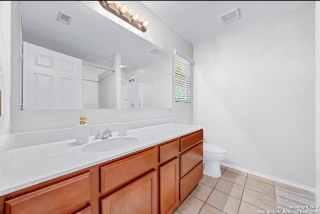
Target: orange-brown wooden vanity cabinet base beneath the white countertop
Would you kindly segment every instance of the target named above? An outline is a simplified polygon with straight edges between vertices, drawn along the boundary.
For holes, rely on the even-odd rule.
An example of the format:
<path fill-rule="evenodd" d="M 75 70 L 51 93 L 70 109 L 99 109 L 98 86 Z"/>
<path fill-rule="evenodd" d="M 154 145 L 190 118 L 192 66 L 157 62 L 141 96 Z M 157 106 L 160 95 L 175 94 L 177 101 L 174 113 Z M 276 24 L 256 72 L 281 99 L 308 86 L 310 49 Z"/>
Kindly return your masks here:
<path fill-rule="evenodd" d="M 202 130 L 0 196 L 0 214 L 173 213 L 202 178 Z"/>

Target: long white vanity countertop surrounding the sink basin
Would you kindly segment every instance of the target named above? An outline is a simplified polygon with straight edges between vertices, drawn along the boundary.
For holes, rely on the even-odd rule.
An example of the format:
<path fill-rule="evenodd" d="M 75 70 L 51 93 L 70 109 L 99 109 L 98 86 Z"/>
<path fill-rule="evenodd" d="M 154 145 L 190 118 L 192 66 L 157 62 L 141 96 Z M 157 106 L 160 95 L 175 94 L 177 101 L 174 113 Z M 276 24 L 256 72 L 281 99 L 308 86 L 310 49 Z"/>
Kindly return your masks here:
<path fill-rule="evenodd" d="M 50 180 L 89 166 L 96 165 L 140 149 L 202 129 L 202 126 L 179 123 L 131 129 L 128 136 L 139 136 L 140 141 L 130 147 L 106 152 L 83 152 L 81 148 L 96 142 L 90 138 L 86 144 L 75 139 L 16 148 L 0 188 L 0 196 Z M 116 135 L 117 133 L 113 133 Z"/>

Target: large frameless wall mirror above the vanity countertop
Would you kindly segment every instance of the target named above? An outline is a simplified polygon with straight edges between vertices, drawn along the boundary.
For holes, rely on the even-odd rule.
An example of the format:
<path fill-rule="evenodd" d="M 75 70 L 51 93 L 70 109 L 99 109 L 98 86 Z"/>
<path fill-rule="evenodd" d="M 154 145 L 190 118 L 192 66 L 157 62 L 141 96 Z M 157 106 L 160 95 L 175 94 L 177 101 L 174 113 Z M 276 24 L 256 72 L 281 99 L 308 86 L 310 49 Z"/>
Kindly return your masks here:
<path fill-rule="evenodd" d="M 77 1 L 20 11 L 22 109 L 172 107 L 171 55 L 159 46 Z"/>

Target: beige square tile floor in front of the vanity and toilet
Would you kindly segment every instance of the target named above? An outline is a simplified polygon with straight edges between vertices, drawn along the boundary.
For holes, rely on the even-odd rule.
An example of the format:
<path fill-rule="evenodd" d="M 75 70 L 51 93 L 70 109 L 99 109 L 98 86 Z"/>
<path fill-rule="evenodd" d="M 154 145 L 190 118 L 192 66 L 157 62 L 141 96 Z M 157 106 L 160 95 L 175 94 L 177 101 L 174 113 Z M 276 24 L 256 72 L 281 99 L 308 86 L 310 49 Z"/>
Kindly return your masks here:
<path fill-rule="evenodd" d="M 224 166 L 221 174 L 219 178 L 203 174 L 173 214 L 254 214 L 276 209 L 272 180 Z"/>

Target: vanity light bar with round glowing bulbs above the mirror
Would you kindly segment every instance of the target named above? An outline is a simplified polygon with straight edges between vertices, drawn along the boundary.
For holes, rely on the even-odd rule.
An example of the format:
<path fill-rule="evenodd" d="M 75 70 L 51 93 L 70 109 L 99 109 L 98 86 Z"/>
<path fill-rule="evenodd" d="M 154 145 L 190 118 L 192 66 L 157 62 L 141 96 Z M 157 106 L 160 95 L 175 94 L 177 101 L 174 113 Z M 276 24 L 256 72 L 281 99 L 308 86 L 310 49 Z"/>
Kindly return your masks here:
<path fill-rule="evenodd" d="M 128 12 L 129 6 L 126 3 L 122 3 L 120 7 L 117 6 L 113 1 L 99 1 L 99 3 L 103 9 L 111 12 L 115 16 L 119 17 L 142 32 L 146 32 L 146 28 L 150 25 L 149 20 L 140 20 L 141 16 L 138 12 L 134 12 L 133 15 L 131 15 Z"/>

